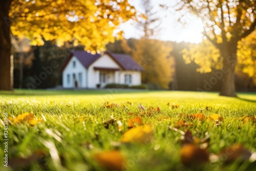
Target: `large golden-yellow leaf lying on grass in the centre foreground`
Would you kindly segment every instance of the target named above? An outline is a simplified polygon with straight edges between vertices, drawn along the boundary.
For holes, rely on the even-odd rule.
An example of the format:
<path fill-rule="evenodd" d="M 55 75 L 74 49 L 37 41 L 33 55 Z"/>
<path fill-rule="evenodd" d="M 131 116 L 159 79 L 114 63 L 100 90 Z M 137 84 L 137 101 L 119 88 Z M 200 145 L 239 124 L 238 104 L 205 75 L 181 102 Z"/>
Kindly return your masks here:
<path fill-rule="evenodd" d="M 154 131 L 151 125 L 141 125 L 133 127 L 126 131 L 122 138 L 122 142 L 136 142 L 136 143 L 148 143 L 151 142 L 154 136 Z"/>

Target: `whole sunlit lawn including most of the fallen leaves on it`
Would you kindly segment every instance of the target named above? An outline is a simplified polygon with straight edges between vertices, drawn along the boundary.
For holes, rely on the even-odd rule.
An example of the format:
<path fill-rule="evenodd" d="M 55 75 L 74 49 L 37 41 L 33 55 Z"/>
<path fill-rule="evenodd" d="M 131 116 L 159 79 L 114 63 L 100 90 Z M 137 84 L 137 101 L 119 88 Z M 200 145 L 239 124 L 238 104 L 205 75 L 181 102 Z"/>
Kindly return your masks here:
<path fill-rule="evenodd" d="M 34 115 L 35 123 L 24 118 L 14 123 L 9 118 L 8 164 L 13 170 L 251 170 L 256 167 L 256 94 L 238 95 L 121 90 L 0 92 L 0 135 L 5 136 L 5 113 L 14 119 L 26 112 Z M 138 107 L 140 104 L 145 109 Z M 189 115 L 198 113 L 203 118 Z M 212 114 L 223 119 L 211 120 Z M 139 130 L 143 126 L 128 128 L 129 120 L 138 116 L 141 124 L 153 128 L 150 143 L 120 143 L 127 131 L 137 128 L 138 136 L 143 132 Z M 188 131 L 192 142 L 187 140 L 190 136 L 182 135 Z M 209 141 L 199 142 L 207 136 Z M 3 145 L 5 141 L 0 142 Z M 188 144 L 194 146 L 184 148 Z M 5 155 L 2 145 L 1 159 Z M 1 162 L 2 169 L 12 170 Z"/>

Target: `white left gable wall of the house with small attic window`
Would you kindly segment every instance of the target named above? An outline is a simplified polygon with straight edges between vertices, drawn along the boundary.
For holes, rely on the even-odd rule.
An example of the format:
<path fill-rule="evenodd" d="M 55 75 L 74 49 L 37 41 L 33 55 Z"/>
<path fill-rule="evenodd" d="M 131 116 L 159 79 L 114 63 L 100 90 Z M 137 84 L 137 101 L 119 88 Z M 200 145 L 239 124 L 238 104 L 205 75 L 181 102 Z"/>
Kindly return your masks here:
<path fill-rule="evenodd" d="M 73 62 L 75 62 L 75 66 L 73 66 Z M 74 88 L 75 82 L 73 79 L 73 74 L 75 74 L 75 78 L 78 81 L 78 88 L 86 88 L 86 75 L 87 70 L 82 65 L 82 63 L 73 56 L 66 68 L 62 72 L 62 86 L 63 88 Z M 69 81 L 68 81 L 69 75 Z"/>

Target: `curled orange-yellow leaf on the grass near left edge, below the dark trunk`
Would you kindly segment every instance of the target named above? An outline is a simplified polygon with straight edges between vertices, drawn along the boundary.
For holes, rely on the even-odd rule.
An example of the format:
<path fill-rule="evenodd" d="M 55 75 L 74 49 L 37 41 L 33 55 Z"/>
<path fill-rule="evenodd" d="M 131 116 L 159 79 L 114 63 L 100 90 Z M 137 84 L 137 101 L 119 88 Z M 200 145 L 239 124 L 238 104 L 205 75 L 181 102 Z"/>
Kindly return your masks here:
<path fill-rule="evenodd" d="M 38 124 L 41 121 L 41 119 L 34 119 L 34 115 L 27 112 L 23 114 L 19 114 L 16 118 L 8 117 L 8 120 L 10 123 L 17 123 L 17 124 L 27 122 L 32 126 Z"/>

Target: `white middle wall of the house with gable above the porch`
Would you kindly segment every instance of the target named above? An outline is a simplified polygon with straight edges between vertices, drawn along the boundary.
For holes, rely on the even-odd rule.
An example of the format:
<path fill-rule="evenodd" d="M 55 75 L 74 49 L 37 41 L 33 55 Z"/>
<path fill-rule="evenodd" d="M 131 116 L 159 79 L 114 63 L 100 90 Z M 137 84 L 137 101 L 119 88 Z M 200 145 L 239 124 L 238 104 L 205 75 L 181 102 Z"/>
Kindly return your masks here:
<path fill-rule="evenodd" d="M 96 71 L 94 67 L 101 67 L 101 68 L 114 68 L 114 69 L 121 69 L 120 66 L 107 54 L 102 55 L 98 58 L 92 65 L 88 68 L 88 88 L 95 89 L 96 84 L 99 83 L 99 75 L 101 71 Z M 106 72 L 108 79 L 107 82 L 101 83 L 101 88 L 108 83 L 114 83 L 114 72 Z"/>

